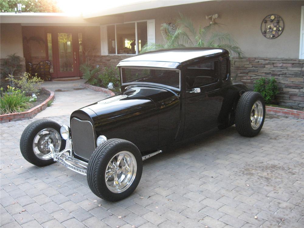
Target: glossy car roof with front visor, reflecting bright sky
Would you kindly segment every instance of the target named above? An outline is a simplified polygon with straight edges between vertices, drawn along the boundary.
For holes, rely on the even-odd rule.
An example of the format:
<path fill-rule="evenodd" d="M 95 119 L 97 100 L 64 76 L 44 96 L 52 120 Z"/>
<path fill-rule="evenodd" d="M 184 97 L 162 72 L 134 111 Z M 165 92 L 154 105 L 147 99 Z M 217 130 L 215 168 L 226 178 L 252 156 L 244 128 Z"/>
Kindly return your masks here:
<path fill-rule="evenodd" d="M 175 48 L 151 51 L 121 60 L 117 66 L 178 68 L 198 58 L 228 53 L 221 48 Z"/>

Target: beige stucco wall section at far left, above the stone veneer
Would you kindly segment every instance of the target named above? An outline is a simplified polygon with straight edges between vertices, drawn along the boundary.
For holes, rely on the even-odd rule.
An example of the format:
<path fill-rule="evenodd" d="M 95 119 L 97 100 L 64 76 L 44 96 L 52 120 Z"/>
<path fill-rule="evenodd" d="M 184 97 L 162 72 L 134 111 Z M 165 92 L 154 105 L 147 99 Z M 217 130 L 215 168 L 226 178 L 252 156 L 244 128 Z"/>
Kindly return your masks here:
<path fill-rule="evenodd" d="M 0 58 L 16 53 L 23 57 L 21 24 L 1 24 Z"/>

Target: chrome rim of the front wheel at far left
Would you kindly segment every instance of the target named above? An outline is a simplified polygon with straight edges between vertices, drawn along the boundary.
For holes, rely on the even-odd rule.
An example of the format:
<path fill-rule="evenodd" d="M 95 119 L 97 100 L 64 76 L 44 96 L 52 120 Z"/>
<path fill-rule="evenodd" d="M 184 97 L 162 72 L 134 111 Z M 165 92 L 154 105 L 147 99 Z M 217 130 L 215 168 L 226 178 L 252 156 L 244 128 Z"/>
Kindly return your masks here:
<path fill-rule="evenodd" d="M 55 151 L 59 151 L 61 147 L 61 139 L 59 133 L 53 128 L 44 128 L 39 131 L 33 140 L 33 151 L 36 157 L 42 160 L 51 158 L 49 142 L 53 144 Z"/>

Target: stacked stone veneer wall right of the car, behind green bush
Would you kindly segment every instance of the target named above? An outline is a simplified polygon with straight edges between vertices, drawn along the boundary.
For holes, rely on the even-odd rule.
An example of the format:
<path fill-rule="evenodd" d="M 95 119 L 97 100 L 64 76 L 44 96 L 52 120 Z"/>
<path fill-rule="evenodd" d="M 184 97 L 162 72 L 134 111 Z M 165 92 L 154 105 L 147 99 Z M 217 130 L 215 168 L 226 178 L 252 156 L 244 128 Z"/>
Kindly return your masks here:
<path fill-rule="evenodd" d="M 259 78 L 275 77 L 280 105 L 304 107 L 304 60 L 282 58 L 233 58 L 231 76 L 253 90 Z"/>

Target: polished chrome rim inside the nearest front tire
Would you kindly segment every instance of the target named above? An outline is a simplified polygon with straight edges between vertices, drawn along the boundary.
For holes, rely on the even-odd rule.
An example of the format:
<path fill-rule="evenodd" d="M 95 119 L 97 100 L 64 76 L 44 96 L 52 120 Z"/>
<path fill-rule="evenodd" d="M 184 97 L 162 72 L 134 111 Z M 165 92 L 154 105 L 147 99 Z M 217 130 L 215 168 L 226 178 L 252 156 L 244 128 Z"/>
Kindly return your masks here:
<path fill-rule="evenodd" d="M 114 193 L 128 189 L 136 176 L 137 163 L 134 155 L 129 151 L 120 151 L 108 163 L 105 171 L 107 188 Z"/>

